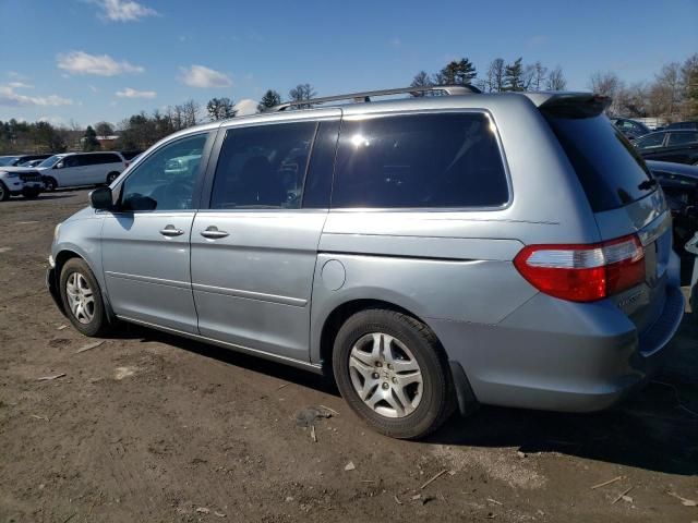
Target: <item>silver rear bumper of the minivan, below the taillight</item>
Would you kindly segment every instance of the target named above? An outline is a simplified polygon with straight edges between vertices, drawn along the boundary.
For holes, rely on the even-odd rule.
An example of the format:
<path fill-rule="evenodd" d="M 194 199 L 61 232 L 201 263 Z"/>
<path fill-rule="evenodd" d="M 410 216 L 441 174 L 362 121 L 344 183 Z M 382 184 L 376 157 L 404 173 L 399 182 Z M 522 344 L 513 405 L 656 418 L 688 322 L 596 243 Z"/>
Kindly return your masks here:
<path fill-rule="evenodd" d="M 684 314 L 678 288 L 638 335 L 609 301 L 579 304 L 539 294 L 496 326 L 428 319 L 483 404 L 591 412 L 646 382 L 667 357 Z"/>

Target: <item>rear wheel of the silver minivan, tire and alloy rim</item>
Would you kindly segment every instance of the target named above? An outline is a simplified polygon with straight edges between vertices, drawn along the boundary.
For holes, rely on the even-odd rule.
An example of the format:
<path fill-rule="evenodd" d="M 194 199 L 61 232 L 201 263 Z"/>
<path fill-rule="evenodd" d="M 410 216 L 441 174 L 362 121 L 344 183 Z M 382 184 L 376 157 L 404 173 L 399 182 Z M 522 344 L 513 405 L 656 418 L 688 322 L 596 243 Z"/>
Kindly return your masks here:
<path fill-rule="evenodd" d="M 376 346 L 383 348 L 378 357 Z M 402 313 L 373 308 L 347 319 L 335 339 L 333 369 L 349 406 L 386 436 L 423 438 L 456 408 L 453 377 L 436 336 Z M 421 385 L 409 382 L 418 379 L 417 373 Z"/>

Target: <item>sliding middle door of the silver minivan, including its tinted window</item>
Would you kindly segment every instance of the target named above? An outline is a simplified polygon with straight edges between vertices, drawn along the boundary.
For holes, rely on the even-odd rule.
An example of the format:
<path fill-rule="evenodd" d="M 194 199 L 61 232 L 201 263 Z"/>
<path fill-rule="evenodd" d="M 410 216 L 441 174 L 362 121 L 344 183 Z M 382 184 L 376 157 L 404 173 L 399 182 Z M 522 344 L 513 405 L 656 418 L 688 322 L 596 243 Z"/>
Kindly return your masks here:
<path fill-rule="evenodd" d="M 310 299 L 327 208 L 309 208 L 323 207 L 322 196 L 314 198 L 320 205 L 303 202 L 309 192 L 317 193 L 309 186 L 323 186 L 306 181 L 322 125 L 334 133 L 327 142 L 334 155 L 336 121 L 226 132 L 210 208 L 196 215 L 192 228 L 192 288 L 202 336 L 309 360 Z"/>

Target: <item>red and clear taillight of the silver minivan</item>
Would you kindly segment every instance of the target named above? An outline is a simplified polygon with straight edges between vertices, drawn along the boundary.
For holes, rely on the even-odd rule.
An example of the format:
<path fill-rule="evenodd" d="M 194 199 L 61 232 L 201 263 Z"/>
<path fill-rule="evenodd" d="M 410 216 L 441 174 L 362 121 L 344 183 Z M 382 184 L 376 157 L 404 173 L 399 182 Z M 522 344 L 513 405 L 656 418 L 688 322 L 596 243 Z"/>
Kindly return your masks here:
<path fill-rule="evenodd" d="M 528 245 L 514 258 L 539 291 L 593 302 L 645 280 L 645 250 L 636 235 L 590 245 Z"/>

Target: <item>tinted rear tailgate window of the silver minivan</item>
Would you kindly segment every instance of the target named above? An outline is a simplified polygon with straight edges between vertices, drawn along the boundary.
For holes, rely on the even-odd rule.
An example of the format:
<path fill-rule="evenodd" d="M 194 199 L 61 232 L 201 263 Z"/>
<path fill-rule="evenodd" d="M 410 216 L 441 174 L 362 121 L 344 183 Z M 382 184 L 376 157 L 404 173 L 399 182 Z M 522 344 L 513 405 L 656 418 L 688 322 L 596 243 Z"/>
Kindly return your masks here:
<path fill-rule="evenodd" d="M 637 202 L 654 191 L 633 145 L 604 115 L 562 118 L 543 111 L 594 212 Z"/>

